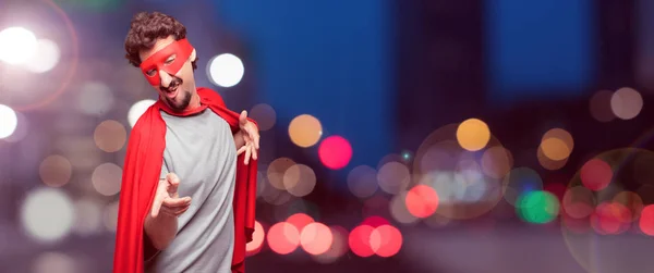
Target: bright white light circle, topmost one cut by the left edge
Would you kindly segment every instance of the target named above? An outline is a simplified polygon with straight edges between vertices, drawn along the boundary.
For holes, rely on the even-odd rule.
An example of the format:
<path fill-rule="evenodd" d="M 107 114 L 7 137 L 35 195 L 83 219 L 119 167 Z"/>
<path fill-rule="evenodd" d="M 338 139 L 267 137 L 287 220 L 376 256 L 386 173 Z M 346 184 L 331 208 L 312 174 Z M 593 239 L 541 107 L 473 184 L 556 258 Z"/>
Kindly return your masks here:
<path fill-rule="evenodd" d="M 28 61 L 37 49 L 36 36 L 19 26 L 0 32 L 0 61 L 9 64 L 21 64 Z"/>

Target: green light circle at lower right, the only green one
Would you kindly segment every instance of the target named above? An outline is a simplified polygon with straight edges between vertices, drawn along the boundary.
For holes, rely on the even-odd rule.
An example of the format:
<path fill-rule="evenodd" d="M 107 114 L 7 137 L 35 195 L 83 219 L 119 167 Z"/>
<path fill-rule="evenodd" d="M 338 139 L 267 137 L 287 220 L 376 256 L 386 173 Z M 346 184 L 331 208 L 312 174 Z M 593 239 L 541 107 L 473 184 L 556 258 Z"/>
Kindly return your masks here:
<path fill-rule="evenodd" d="M 556 196 L 545 190 L 533 190 L 518 198 L 516 210 L 529 223 L 545 224 L 559 213 L 560 204 Z"/>

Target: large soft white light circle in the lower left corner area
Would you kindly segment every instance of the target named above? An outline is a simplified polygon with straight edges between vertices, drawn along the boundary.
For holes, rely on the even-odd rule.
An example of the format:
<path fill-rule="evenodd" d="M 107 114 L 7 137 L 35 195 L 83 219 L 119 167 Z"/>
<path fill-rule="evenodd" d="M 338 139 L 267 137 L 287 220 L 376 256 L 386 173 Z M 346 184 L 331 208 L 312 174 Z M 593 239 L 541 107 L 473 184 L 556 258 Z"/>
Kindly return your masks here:
<path fill-rule="evenodd" d="M 68 235 L 75 220 L 73 202 L 58 188 L 31 191 L 21 209 L 23 228 L 44 243 L 57 241 Z"/>

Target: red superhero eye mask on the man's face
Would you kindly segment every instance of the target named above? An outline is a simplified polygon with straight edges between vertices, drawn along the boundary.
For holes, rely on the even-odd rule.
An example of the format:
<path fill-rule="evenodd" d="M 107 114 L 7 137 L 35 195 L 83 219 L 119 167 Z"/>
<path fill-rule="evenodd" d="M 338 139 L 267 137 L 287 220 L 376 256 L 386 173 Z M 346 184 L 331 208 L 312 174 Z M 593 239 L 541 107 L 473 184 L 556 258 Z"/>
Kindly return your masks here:
<path fill-rule="evenodd" d="M 165 71 L 171 76 L 174 76 L 191 57 L 193 47 L 186 39 L 175 40 L 157 51 L 141 63 L 141 71 L 150 85 L 159 86 L 161 77 L 159 71 Z M 171 55 L 175 55 L 171 62 L 166 62 Z"/>

